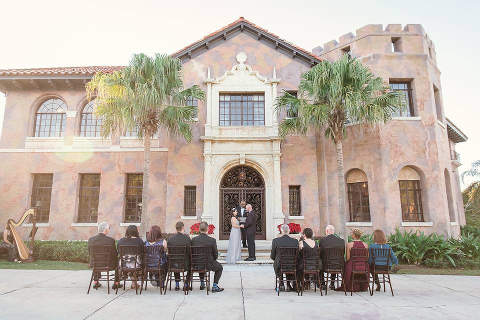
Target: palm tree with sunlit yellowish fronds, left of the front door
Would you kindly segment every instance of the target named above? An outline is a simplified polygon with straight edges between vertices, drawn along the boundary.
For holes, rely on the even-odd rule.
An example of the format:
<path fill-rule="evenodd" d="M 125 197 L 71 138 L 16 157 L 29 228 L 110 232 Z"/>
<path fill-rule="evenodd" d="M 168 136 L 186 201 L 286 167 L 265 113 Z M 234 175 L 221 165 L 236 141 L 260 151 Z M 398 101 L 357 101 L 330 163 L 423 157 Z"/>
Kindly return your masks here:
<path fill-rule="evenodd" d="M 143 192 L 141 211 L 148 214 L 150 175 L 150 138 L 165 129 L 169 134 L 192 139 L 194 106 L 189 98 L 204 100 L 205 92 L 193 85 L 183 88 L 179 59 L 166 54 L 154 57 L 134 54 L 128 65 L 113 73 L 97 72 L 86 84 L 89 98 L 96 96 L 95 113 L 102 118 L 101 135 L 137 131 L 143 140 Z M 140 235 L 146 231 L 146 218 L 140 219 Z"/>

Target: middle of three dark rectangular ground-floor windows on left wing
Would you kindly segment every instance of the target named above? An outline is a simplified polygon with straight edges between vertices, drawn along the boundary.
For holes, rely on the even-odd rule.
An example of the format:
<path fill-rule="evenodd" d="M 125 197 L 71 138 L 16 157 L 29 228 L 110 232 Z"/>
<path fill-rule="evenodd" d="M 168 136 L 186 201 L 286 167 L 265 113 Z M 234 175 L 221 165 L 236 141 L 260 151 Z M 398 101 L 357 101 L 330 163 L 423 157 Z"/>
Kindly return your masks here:
<path fill-rule="evenodd" d="M 78 222 L 97 222 L 100 173 L 80 174 Z"/>

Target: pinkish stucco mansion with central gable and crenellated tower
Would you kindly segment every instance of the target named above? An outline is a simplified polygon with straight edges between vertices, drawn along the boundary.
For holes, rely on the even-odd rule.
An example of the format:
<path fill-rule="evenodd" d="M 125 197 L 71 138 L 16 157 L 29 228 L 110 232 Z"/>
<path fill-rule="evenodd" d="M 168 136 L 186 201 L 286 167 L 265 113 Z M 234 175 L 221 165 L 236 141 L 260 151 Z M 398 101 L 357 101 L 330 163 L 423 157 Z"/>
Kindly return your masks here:
<path fill-rule="evenodd" d="M 322 59 L 357 57 L 406 96 L 407 108 L 379 128 L 347 124 L 345 208 L 338 214 L 334 144 L 323 134 L 278 136 L 283 90 Z M 207 221 L 227 239 L 241 199 L 257 214 L 257 239 L 296 222 L 387 234 L 395 227 L 456 236 L 465 223 L 455 143 L 466 136 L 443 112 L 433 42 L 419 24 L 369 24 L 306 51 L 240 17 L 172 54 L 185 87 L 200 85 L 193 140 L 159 131 L 151 139 L 150 189 L 142 190 L 142 141 L 135 132 L 99 135 L 85 84 L 121 66 L 0 70 L 6 105 L 0 135 L 0 222 L 38 206 L 37 239 L 86 239 L 98 222 L 119 238 L 129 224 L 173 232 Z M 141 196 L 149 192 L 148 212 Z M 23 223 L 23 235 L 31 226 Z"/>

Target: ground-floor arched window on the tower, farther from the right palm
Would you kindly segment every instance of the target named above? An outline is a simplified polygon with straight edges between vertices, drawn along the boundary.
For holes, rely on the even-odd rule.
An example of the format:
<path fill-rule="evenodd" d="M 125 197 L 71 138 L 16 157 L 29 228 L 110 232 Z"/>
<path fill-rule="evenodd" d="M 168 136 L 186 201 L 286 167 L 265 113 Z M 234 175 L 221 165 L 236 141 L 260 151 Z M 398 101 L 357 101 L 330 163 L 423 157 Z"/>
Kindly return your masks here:
<path fill-rule="evenodd" d="M 404 166 L 398 174 L 400 187 L 401 220 L 422 222 L 420 175 L 412 167 Z"/>

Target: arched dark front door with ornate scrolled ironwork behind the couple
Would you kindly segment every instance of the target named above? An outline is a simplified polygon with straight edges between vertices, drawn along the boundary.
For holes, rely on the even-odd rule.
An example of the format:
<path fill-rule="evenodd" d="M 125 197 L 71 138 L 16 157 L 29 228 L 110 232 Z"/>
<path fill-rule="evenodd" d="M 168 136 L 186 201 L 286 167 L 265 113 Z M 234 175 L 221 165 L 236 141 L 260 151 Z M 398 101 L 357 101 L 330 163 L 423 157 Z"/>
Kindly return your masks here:
<path fill-rule="evenodd" d="M 266 239 L 265 227 L 265 184 L 257 170 L 239 165 L 228 170 L 220 182 L 220 240 L 230 235 L 231 209 L 239 206 L 240 200 L 251 204 L 256 214 L 256 239 Z"/>

